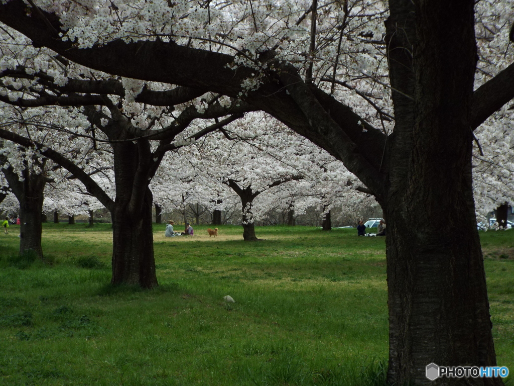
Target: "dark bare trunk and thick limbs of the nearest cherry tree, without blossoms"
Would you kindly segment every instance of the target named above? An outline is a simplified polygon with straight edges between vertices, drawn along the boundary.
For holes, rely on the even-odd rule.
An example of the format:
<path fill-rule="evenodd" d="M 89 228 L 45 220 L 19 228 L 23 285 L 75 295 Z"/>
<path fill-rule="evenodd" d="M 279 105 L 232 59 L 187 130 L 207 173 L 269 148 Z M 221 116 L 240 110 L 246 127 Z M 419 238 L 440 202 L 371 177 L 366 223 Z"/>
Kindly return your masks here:
<path fill-rule="evenodd" d="M 425 366 L 494 365 L 489 304 L 471 186 L 471 132 L 514 97 L 514 64 L 473 92 L 474 3 L 390 0 L 386 23 L 395 128 L 387 136 L 292 66 L 243 98 L 344 162 L 374 194 L 388 224 L 388 380 L 497 386 L 499 378 L 442 378 Z M 65 31 L 54 15 L 53 29 Z M 120 40 L 79 49 L 24 2 L 0 5 L 0 21 L 82 65 L 236 97 L 252 69 L 229 55 L 163 42 Z M 205 63 L 208 63 L 206 65 Z M 268 66 L 268 68 L 271 68 Z M 382 157 L 383 154 L 383 157 Z M 410 225 L 420 224 L 415 229 Z"/>

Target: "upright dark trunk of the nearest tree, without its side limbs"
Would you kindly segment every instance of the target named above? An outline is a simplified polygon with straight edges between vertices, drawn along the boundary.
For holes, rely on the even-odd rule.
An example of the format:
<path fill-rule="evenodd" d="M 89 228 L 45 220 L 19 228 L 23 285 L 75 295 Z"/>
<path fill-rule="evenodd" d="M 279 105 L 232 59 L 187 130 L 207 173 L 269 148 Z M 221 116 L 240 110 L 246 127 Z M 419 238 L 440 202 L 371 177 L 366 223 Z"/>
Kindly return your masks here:
<path fill-rule="evenodd" d="M 432 382 L 425 375 L 432 362 L 495 364 L 471 183 L 473 2 L 390 4 L 391 83 L 403 95 L 393 92 L 390 186 L 381 202 L 388 224 L 388 380 L 500 385 L 499 378 Z"/>

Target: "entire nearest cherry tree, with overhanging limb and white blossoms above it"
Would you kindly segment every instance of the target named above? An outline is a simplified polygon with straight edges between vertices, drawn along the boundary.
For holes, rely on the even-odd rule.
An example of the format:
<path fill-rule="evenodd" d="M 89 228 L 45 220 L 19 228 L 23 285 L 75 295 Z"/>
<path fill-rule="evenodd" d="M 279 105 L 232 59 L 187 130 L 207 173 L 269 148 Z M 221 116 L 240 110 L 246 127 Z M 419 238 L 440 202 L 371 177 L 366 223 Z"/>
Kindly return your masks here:
<path fill-rule="evenodd" d="M 388 222 L 390 382 L 496 363 L 472 147 L 514 97 L 508 2 L 29 3 L 0 22 L 36 54 L 240 98 L 357 176 Z"/>

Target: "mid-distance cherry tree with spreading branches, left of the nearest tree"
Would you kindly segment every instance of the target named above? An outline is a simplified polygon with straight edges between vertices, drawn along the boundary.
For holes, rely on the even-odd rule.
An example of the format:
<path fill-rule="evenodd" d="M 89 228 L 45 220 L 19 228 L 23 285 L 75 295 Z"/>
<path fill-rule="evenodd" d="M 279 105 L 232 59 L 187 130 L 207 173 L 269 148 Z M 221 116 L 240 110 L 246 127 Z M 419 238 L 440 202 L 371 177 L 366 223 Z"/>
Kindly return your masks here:
<path fill-rule="evenodd" d="M 12 51 L 11 56 L 17 58 L 19 52 Z M 66 61 L 61 63 L 65 64 Z M 150 84 L 145 88 L 137 81 L 109 79 L 98 72 L 94 80 L 79 77 L 68 79 L 63 85 L 59 81 L 63 72 L 66 73 L 66 68 L 63 70 L 60 66 L 35 74 L 24 66 L 6 69 L 0 74 L 5 95 L 0 96 L 0 100 L 22 109 L 45 107 L 58 119 L 50 127 L 46 124 L 47 128 L 66 133 L 66 139 L 50 144 L 47 140 L 34 141 L 15 130 L 0 130 L 0 136 L 26 148 L 35 148 L 32 151 L 66 168 L 84 184 L 89 194 L 109 209 L 113 219 L 113 284 L 156 286 L 151 225 L 153 198 L 149 183 L 162 157 L 167 151 L 194 142 L 240 118 L 248 107 L 241 103 L 233 106 L 228 98 L 208 95 L 208 99 L 199 101 L 200 107 L 183 106 L 174 116 L 175 106 L 205 93 L 182 87 L 168 90 L 169 85 L 164 89 L 157 85 L 159 90 L 152 90 Z M 102 76 L 104 79 L 98 80 Z M 34 85 L 35 80 L 38 80 L 37 85 Z M 114 96 L 115 102 L 109 95 Z M 60 107 L 50 110 L 50 106 Z M 63 106 L 69 108 L 63 109 Z M 213 121 L 190 126 L 200 118 Z M 23 125 L 35 127 L 34 122 L 28 120 L 23 121 Z M 45 124 L 38 122 L 38 125 Z M 188 127 L 189 132 L 184 132 Z M 40 134 L 46 135 L 46 131 Z M 103 154 L 103 162 L 113 165 L 115 197 L 109 196 L 109 191 L 93 178 L 99 169 L 89 157 L 79 157 L 77 163 L 62 150 L 54 150 L 56 142 L 69 140 L 70 136 L 78 139 L 79 143 L 74 146 L 80 154 Z M 108 189 L 112 189 L 111 186 Z"/>

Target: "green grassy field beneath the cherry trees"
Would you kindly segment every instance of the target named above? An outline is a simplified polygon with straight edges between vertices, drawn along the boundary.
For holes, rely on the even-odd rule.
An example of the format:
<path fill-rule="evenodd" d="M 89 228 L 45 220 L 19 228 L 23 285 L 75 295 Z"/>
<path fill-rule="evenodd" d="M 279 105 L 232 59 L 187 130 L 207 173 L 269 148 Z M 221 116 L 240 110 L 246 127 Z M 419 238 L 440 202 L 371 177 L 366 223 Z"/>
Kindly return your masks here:
<path fill-rule="evenodd" d="M 178 228 L 177 228 L 178 229 Z M 159 287 L 109 285 L 108 224 L 44 224 L 46 263 L 0 235 L 2 385 L 383 385 L 383 238 L 207 226 L 164 238 Z M 481 233 L 498 363 L 514 371 L 514 230 Z M 235 299 L 227 304 L 225 295 Z M 510 383 L 512 384 L 512 383 Z"/>

